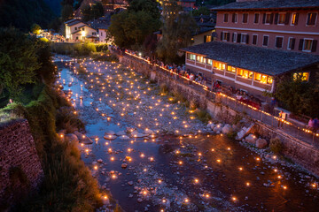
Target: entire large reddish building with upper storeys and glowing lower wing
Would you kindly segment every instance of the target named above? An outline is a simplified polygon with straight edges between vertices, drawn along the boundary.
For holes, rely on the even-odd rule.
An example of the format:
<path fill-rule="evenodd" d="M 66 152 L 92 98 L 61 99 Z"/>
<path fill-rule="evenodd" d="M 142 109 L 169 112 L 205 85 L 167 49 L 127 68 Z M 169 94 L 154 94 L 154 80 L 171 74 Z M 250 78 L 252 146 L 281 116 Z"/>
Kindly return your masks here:
<path fill-rule="evenodd" d="M 208 85 L 218 81 L 266 101 L 281 76 L 315 79 L 318 0 L 237 0 L 214 11 L 216 41 L 181 49 L 186 68 Z"/>

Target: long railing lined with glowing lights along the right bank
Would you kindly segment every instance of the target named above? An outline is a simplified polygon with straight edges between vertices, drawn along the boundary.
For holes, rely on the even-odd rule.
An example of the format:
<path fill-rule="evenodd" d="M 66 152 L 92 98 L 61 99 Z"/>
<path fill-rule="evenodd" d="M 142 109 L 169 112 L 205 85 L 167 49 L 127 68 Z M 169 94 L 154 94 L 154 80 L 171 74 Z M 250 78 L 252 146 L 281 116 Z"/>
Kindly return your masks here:
<path fill-rule="evenodd" d="M 250 104 L 240 102 L 230 95 L 226 95 L 222 92 L 211 91 L 209 90 L 209 87 L 207 87 L 206 85 L 200 84 L 197 81 L 181 76 L 176 72 L 172 72 L 164 67 L 161 67 L 159 64 L 152 64 L 150 63 L 150 61 L 144 59 L 143 57 L 136 56 L 129 52 L 125 52 L 125 54 L 128 57 L 132 57 L 140 61 L 144 61 L 144 63 L 150 64 L 152 68 L 156 66 L 156 72 L 162 72 L 166 74 L 168 77 L 178 80 L 179 82 L 196 89 L 199 93 L 206 94 L 208 98 L 214 100 L 215 102 L 221 102 L 223 105 L 227 105 L 233 110 L 243 112 L 247 116 L 252 117 L 253 119 L 260 120 L 264 124 L 276 127 L 277 130 L 282 131 L 283 133 L 286 133 L 294 138 L 305 141 L 308 144 L 316 148 L 319 148 L 319 133 L 317 132 L 312 132 L 305 127 L 294 125 L 289 121 L 273 116 L 272 114 L 264 110 L 258 109 L 256 107 L 253 107 Z"/>

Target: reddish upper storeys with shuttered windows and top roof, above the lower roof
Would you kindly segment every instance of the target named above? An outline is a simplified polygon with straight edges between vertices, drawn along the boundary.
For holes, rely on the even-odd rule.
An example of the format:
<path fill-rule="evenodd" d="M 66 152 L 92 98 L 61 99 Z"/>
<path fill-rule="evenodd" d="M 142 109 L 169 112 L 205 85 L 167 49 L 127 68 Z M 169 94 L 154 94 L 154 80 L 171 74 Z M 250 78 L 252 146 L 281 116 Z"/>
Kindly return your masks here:
<path fill-rule="evenodd" d="M 211 10 L 218 41 L 319 55 L 318 0 L 237 0 Z"/>

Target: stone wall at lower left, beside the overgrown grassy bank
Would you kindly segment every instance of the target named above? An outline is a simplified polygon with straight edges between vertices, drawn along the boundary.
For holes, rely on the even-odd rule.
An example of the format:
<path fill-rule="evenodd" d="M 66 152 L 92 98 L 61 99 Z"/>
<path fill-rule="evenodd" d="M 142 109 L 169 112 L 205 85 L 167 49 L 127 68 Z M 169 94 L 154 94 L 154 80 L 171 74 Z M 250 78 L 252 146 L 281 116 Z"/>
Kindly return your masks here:
<path fill-rule="evenodd" d="M 42 179 L 43 169 L 27 120 L 0 125 L 0 208 L 35 190 Z"/>

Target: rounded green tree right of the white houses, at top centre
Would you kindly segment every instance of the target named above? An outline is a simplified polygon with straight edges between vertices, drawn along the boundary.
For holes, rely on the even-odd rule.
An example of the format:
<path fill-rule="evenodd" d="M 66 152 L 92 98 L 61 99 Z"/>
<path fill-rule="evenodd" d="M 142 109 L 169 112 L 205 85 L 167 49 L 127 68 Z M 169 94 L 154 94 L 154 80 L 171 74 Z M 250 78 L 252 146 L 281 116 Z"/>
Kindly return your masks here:
<path fill-rule="evenodd" d="M 152 0 L 133 0 L 127 11 L 112 16 L 108 30 L 116 45 L 138 49 L 149 34 L 159 30 L 159 9 L 153 7 L 153 3 Z"/>

